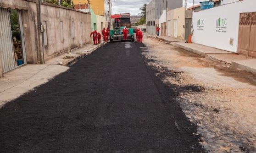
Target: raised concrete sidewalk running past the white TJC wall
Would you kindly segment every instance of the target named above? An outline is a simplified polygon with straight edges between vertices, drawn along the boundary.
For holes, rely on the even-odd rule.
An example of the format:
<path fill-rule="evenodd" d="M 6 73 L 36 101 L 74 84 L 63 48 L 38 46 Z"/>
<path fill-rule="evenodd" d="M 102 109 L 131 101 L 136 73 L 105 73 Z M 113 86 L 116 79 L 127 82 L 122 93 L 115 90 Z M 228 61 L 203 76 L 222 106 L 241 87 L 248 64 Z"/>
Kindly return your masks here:
<path fill-rule="evenodd" d="M 216 49 L 216 48 L 201 45 L 201 44 L 195 44 L 195 43 L 187 44 L 187 43 L 184 43 L 184 40 L 179 40 L 177 38 L 172 38 L 168 36 L 157 37 L 156 35 L 149 35 L 147 33 L 144 33 L 144 35 L 150 38 L 156 38 L 165 43 L 172 44 L 176 47 L 188 50 L 190 52 L 193 52 L 205 58 L 225 63 L 229 66 L 234 67 L 235 69 L 244 70 L 244 71 L 248 71 L 256 74 L 255 58 L 228 52 L 221 49 Z"/>

